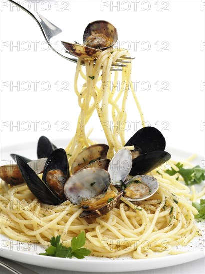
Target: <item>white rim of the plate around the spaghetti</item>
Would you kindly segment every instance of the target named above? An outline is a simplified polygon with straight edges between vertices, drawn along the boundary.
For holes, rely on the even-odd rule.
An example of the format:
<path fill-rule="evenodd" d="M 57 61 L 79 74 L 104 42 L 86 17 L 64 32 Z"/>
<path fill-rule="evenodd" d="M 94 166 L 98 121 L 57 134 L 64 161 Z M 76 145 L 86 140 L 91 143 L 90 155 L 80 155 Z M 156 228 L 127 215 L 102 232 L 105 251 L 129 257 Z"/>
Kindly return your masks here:
<path fill-rule="evenodd" d="M 55 139 L 53 142 L 62 143 L 65 139 Z M 98 140 L 99 141 L 99 140 Z M 14 147 L 19 150 L 19 147 L 22 147 L 22 150 L 29 147 L 30 150 L 34 149 L 34 146 L 37 146 L 34 141 L 26 142 L 24 144 L 9 145 L 1 147 L 1 153 L 7 153 Z M 21 149 L 20 149 L 21 150 Z M 181 149 L 167 147 L 167 150 L 171 150 L 174 154 L 180 153 L 182 157 L 187 157 L 187 155 L 192 155 L 189 151 L 183 151 Z M 202 158 L 203 156 L 197 155 L 197 158 Z M 4 234 L 0 234 L 0 238 L 5 237 L 4 240 L 12 240 Z M 183 264 L 189 261 L 194 261 L 204 257 L 203 249 L 194 250 L 194 251 L 185 251 L 182 254 L 177 255 L 166 255 L 162 257 L 153 257 L 153 258 L 143 258 L 143 259 L 133 259 L 133 258 L 103 258 L 100 257 L 86 257 L 83 260 L 79 259 L 69 259 L 49 257 L 49 256 L 39 256 L 38 254 L 28 253 L 26 251 L 16 251 L 10 250 L 9 248 L 2 247 L 2 239 L 0 241 L 1 256 L 7 259 L 15 260 L 21 263 L 32 264 L 40 267 L 55 268 L 60 270 L 70 270 L 70 271 L 85 271 L 86 272 L 127 272 L 127 271 L 136 271 L 137 270 L 150 270 L 158 269 L 163 267 L 175 266 Z M 22 256 L 23 255 L 23 256 Z M 174 257 L 173 257 L 174 256 Z M 171 258 L 174 260 L 170 260 Z M 145 261 L 146 260 L 146 261 Z M 45 265 L 46 262 L 46 265 Z M 68 264 L 69 262 L 69 264 Z M 145 267 L 146 262 L 146 267 Z M 106 263 L 106 264 L 105 264 Z M 103 264 L 103 265 L 102 265 Z M 116 268 L 116 266 L 118 266 Z M 102 268 L 101 268 L 102 267 Z"/>

